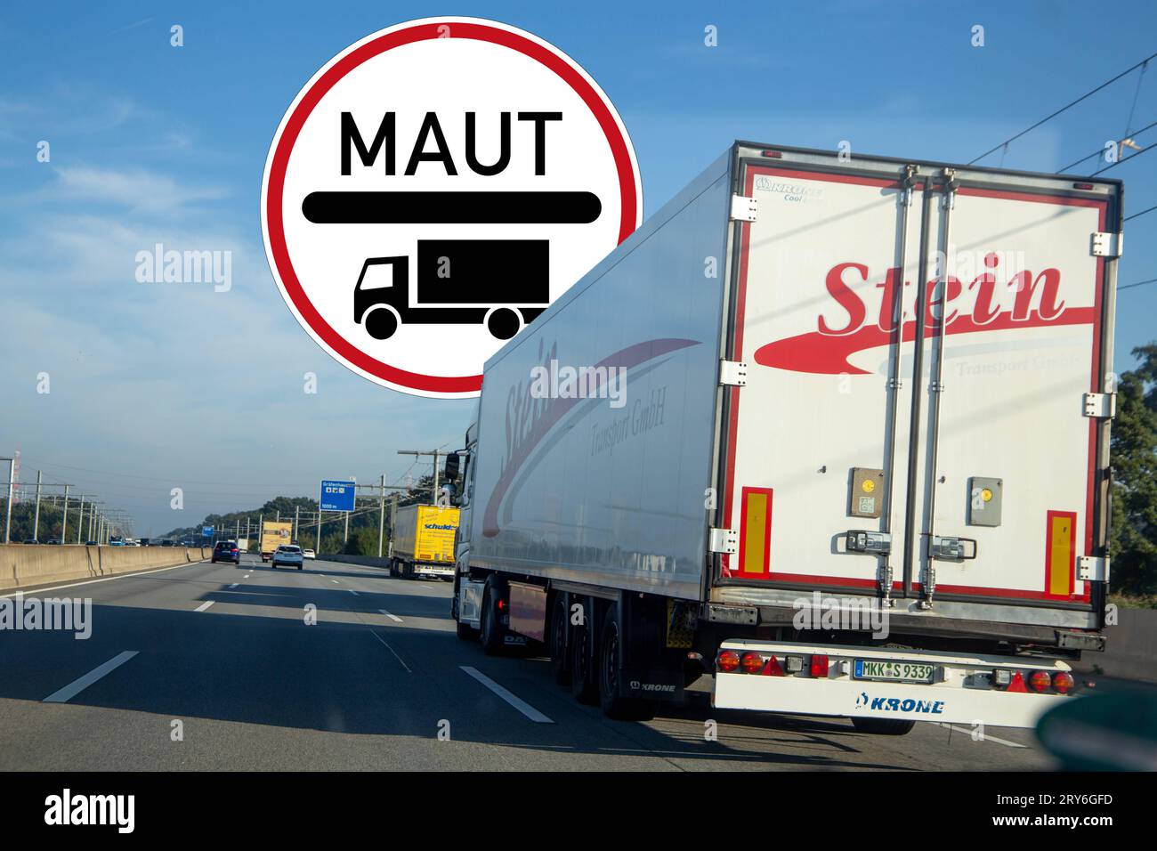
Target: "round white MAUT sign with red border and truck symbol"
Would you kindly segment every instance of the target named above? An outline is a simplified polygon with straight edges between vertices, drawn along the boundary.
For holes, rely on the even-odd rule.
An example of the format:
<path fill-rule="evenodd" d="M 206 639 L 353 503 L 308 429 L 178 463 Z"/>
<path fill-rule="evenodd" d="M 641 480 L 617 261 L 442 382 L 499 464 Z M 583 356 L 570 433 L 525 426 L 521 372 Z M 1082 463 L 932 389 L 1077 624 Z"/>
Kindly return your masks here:
<path fill-rule="evenodd" d="M 375 32 L 278 127 L 270 269 L 337 360 L 384 387 L 477 396 L 482 364 L 642 219 L 614 107 L 566 54 L 493 21 Z"/>

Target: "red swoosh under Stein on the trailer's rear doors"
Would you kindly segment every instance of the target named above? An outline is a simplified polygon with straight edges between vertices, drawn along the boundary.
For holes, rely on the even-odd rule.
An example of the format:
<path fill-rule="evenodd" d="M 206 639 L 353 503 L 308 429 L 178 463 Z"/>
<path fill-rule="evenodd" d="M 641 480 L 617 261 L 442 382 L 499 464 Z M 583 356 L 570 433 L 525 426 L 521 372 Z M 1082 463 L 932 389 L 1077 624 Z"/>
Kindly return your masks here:
<path fill-rule="evenodd" d="M 1052 325 L 1088 325 L 1093 322 L 1093 308 L 1070 307 L 1061 310 L 1052 320 L 1042 320 L 1033 314 L 1026 320 L 1014 320 L 1011 313 L 997 314 L 987 324 L 978 323 L 972 316 L 958 316 L 944 329 L 944 335 L 973 333 L 979 331 L 1005 331 L 1014 328 L 1047 328 Z M 916 338 L 915 321 L 906 322 L 902 328 L 904 343 Z M 924 328 L 924 338 L 934 337 L 936 327 Z M 879 325 L 865 325 L 858 331 L 840 337 L 828 336 L 819 331 L 801 333 L 796 337 L 767 343 L 756 350 L 756 362 L 775 369 L 789 369 L 797 373 L 819 373 L 823 375 L 868 375 L 867 369 L 860 369 L 848 362 L 848 357 L 865 349 L 886 346 L 892 340 L 892 333 L 880 330 Z"/>

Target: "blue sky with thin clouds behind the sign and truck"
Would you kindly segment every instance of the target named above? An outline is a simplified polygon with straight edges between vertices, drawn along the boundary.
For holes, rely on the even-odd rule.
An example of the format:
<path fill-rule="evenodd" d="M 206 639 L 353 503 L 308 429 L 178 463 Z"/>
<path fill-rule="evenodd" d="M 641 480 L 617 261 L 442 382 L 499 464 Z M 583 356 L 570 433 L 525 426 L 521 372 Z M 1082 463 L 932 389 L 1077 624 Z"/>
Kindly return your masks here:
<path fill-rule="evenodd" d="M 735 138 L 967 162 L 1157 51 L 1157 6 L 1117 2 L 62 3 L 0 12 L 0 455 L 22 478 L 96 492 L 137 533 L 322 477 L 428 470 L 473 402 L 420 399 L 348 373 L 270 277 L 258 196 L 270 140 L 310 75 L 362 36 L 439 14 L 554 43 L 629 131 L 646 210 Z M 184 27 L 171 47 L 169 28 Z M 715 25 L 718 46 L 703 45 Z M 971 45 L 972 27 L 985 46 Z M 983 164 L 1053 171 L 1157 122 L 1157 60 Z M 1135 103 L 1134 103 L 1135 100 Z M 51 161 L 37 162 L 37 142 Z M 1157 127 L 1137 137 L 1157 142 Z M 1099 168 L 1089 159 L 1075 173 Z M 1157 159 L 1106 173 L 1126 212 L 1157 204 Z M 1157 212 L 1126 227 L 1120 283 L 1157 277 Z M 148 287 L 156 242 L 233 251 L 233 288 Z M 1120 294 L 1117 365 L 1157 338 L 1157 285 Z M 318 393 L 302 393 L 303 374 Z M 47 373 L 51 393 L 38 394 Z M 222 403 L 223 401 L 223 403 Z M 185 511 L 170 509 L 171 487 Z"/>

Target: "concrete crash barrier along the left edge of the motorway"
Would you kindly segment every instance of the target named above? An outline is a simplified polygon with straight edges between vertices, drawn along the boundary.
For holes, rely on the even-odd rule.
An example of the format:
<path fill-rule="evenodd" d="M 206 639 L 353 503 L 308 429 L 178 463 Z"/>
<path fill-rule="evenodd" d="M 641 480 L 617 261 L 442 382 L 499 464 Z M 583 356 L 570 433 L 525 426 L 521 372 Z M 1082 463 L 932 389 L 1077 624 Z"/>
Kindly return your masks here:
<path fill-rule="evenodd" d="M 0 544 L 0 590 L 172 567 L 207 557 L 204 549 L 183 546 Z"/>

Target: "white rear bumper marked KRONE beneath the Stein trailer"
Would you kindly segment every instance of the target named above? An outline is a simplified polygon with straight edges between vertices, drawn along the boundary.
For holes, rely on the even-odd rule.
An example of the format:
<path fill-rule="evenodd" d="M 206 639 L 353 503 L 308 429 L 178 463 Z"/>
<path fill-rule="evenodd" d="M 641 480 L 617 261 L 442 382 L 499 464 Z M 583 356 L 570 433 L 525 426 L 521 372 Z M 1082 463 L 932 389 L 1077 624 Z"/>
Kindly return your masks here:
<path fill-rule="evenodd" d="M 774 655 L 783 676 L 762 673 L 715 674 L 712 703 L 717 709 L 790 712 L 845 718 L 893 718 L 915 721 L 942 721 L 994 727 L 1033 727 L 1040 716 L 1057 704 L 1079 699 L 1071 695 L 1016 692 L 994 688 L 995 669 L 1022 672 L 1068 672 L 1060 660 L 990 655 L 806 645 L 790 641 L 724 641 L 721 652 L 731 650 L 740 656 L 757 652 Z M 810 675 L 810 656 L 826 655 L 826 677 Z M 803 660 L 803 670 L 787 673 L 788 656 Z M 935 667 L 928 684 L 857 680 L 855 661 L 887 660 Z"/>

